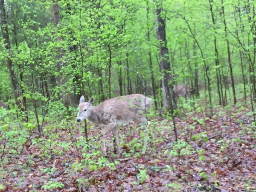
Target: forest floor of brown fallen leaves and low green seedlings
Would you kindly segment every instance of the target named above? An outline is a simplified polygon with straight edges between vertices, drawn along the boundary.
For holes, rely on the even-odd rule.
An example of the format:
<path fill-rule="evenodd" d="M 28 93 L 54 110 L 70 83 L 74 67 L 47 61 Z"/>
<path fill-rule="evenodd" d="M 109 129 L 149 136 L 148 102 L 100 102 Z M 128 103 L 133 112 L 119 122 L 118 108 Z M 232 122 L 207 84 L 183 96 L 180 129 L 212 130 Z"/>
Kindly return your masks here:
<path fill-rule="evenodd" d="M 41 138 L 18 128 L 13 133 L 8 127 L 0 142 L 0 189 L 256 191 L 256 130 L 248 123 L 253 121 L 250 110 L 243 106 L 218 107 L 209 117 L 197 111 L 175 118 L 178 142 L 172 120 L 151 118 L 151 139 L 145 155 L 140 154 L 143 134 L 139 126 L 131 123 L 121 127 L 122 157 L 113 153 L 111 133 L 106 142 L 109 157 L 102 157 L 100 127 L 95 125 L 88 125 L 88 144 L 83 126 L 75 121 L 49 123 Z"/>

